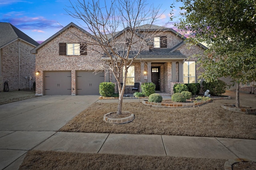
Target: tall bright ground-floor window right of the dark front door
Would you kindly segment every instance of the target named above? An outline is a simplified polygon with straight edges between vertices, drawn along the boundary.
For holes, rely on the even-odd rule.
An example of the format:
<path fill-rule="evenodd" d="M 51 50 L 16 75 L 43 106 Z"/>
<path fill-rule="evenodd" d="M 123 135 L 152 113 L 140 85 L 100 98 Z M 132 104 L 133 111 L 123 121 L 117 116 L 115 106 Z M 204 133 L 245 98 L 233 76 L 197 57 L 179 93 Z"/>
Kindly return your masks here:
<path fill-rule="evenodd" d="M 183 82 L 184 84 L 196 83 L 196 62 L 195 61 L 184 62 Z"/>

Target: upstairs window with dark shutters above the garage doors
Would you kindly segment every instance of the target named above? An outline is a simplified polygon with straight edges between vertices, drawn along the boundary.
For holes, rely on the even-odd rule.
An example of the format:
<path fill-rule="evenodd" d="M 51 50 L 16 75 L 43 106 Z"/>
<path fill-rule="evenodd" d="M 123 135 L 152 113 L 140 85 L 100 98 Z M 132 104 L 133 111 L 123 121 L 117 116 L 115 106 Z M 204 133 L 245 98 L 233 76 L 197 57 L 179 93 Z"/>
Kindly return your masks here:
<path fill-rule="evenodd" d="M 87 46 L 79 43 L 59 43 L 59 55 L 87 55 Z"/>

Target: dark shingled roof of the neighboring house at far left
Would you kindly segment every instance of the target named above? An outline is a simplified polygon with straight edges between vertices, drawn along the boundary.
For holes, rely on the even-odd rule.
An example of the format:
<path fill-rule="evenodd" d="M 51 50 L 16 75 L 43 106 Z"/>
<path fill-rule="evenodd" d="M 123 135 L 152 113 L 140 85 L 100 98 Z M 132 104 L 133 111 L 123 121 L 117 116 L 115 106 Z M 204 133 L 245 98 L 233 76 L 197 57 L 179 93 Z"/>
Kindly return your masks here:
<path fill-rule="evenodd" d="M 12 24 L 0 22 L 0 48 L 4 47 L 8 43 L 16 41 L 17 39 L 26 41 L 35 47 L 39 45 L 38 42 L 30 38 L 18 28 L 14 27 Z"/>

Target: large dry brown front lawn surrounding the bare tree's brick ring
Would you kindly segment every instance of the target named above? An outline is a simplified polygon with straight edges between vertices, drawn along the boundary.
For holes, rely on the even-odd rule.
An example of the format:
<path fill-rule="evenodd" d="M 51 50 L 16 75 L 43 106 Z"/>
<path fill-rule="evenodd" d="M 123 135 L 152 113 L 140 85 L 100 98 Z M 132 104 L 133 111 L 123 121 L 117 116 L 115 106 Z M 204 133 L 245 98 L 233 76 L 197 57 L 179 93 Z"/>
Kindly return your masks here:
<path fill-rule="evenodd" d="M 199 107 L 162 108 L 138 102 L 123 103 L 123 111 L 135 114 L 135 119 L 124 125 L 103 121 L 105 113 L 116 111 L 116 103 L 94 103 L 60 131 L 256 139 L 256 115 L 223 109 L 221 105 L 235 103 L 234 92 L 226 95 L 232 99 L 213 100 Z M 240 103 L 255 107 L 256 95 L 241 93 Z"/>

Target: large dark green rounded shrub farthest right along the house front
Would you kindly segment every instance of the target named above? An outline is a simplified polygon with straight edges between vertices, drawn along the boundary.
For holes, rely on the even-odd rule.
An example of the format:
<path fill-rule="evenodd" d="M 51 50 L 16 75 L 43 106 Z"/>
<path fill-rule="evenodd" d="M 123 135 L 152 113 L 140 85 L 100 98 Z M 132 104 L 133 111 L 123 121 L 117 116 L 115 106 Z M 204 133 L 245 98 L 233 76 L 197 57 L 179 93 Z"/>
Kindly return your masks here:
<path fill-rule="evenodd" d="M 202 82 L 202 86 L 204 86 L 203 91 L 210 90 L 209 94 L 216 96 L 221 95 L 226 92 L 226 83 L 222 80 L 217 80 L 215 82 Z"/>

